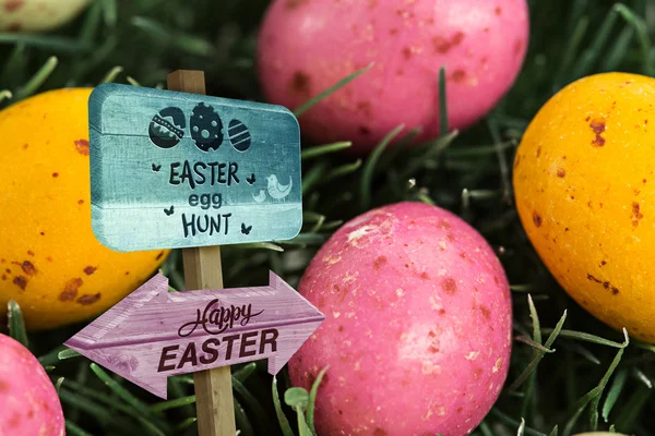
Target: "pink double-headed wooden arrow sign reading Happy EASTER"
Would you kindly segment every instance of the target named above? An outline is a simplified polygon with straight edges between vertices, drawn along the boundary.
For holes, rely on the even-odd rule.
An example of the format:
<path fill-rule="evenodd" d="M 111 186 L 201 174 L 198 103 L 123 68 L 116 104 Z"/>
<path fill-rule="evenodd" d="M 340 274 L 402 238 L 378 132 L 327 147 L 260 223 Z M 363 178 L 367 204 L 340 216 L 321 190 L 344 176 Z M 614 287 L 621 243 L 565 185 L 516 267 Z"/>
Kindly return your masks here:
<path fill-rule="evenodd" d="M 64 344 L 166 399 L 171 375 L 266 358 L 277 374 L 324 319 L 273 272 L 266 287 L 193 292 L 157 275 Z"/>

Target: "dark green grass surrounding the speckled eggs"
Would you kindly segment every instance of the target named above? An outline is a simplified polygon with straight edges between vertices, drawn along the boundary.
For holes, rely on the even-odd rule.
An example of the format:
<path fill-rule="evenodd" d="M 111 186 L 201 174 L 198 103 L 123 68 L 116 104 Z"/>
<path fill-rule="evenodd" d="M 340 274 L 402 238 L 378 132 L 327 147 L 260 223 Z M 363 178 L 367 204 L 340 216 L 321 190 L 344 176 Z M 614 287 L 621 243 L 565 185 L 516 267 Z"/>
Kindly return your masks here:
<path fill-rule="evenodd" d="M 204 70 L 210 95 L 263 101 L 254 55 L 267 3 L 96 0 L 56 33 L 0 34 L 0 92 L 13 93 L 0 107 L 36 92 L 103 81 L 163 86 L 176 69 Z M 492 244 L 514 298 L 516 341 L 508 383 L 475 434 L 570 435 L 598 428 L 655 435 L 647 419 L 655 412 L 655 348 L 634 340 L 627 344 L 623 335 L 595 320 L 559 288 L 523 232 L 509 172 L 527 123 L 563 85 L 603 71 L 654 75 L 648 29 L 655 28 L 655 2 L 528 3 L 532 31 L 524 69 L 489 117 L 460 135 L 412 150 L 380 147 L 376 158 L 364 160 L 323 153 L 333 147 L 306 149 L 303 231 L 293 241 L 226 246 L 225 282 L 259 286 L 273 269 L 296 286 L 312 254 L 341 222 L 401 199 L 438 204 L 461 215 Z M 182 290 L 179 253 L 163 269 Z M 25 335 L 20 310 L 9 311 L 11 334 L 28 342 L 58 385 L 70 435 L 195 434 L 191 377 L 169 379 L 171 400 L 160 402 L 85 359 L 60 353 L 62 341 L 81 325 Z M 235 366 L 233 375 L 241 435 L 288 435 L 275 413 L 265 363 Z M 285 371 L 278 384 L 283 395 L 289 387 Z M 295 424 L 295 409 L 302 412 L 307 395 L 287 393 L 296 407 L 283 405 L 283 411 L 294 433 L 310 434 L 311 428 Z"/>

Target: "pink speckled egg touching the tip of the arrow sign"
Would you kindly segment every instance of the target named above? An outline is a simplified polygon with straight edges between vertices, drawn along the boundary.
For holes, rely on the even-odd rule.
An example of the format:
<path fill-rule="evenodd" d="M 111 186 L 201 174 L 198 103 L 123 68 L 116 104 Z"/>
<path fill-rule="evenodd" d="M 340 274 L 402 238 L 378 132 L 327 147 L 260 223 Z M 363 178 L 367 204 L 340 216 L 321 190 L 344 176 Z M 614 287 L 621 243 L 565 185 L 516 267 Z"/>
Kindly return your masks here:
<path fill-rule="evenodd" d="M 455 215 L 421 203 L 370 210 L 319 251 L 299 292 L 326 319 L 289 362 L 317 398 L 321 436 L 466 435 L 504 383 L 508 280 Z"/>

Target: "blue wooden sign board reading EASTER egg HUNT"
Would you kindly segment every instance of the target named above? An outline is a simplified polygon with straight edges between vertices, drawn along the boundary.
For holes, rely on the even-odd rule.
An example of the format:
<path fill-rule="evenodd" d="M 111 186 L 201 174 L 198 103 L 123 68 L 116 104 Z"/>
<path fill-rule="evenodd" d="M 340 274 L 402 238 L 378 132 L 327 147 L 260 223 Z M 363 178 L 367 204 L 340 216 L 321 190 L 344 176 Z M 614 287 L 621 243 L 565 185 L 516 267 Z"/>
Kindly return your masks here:
<path fill-rule="evenodd" d="M 92 222 L 117 251 L 291 239 L 300 132 L 286 108 L 105 84 L 88 101 Z"/>

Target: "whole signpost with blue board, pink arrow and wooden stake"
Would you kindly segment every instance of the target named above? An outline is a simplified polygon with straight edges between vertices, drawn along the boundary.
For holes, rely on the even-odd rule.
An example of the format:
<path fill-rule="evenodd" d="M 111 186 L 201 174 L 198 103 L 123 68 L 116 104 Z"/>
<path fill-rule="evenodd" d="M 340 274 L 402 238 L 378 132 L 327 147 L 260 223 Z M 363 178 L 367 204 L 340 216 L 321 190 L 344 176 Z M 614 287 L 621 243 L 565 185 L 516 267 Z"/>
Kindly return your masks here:
<path fill-rule="evenodd" d="M 200 435 L 231 436 L 228 365 L 267 358 L 276 374 L 325 318 L 274 275 L 223 289 L 219 245 L 300 231 L 300 132 L 286 108 L 205 96 L 201 71 L 167 81 L 92 93 L 92 228 L 117 251 L 182 249 L 198 292 L 169 295 L 156 276 L 66 344 L 160 397 L 193 372 Z"/>

